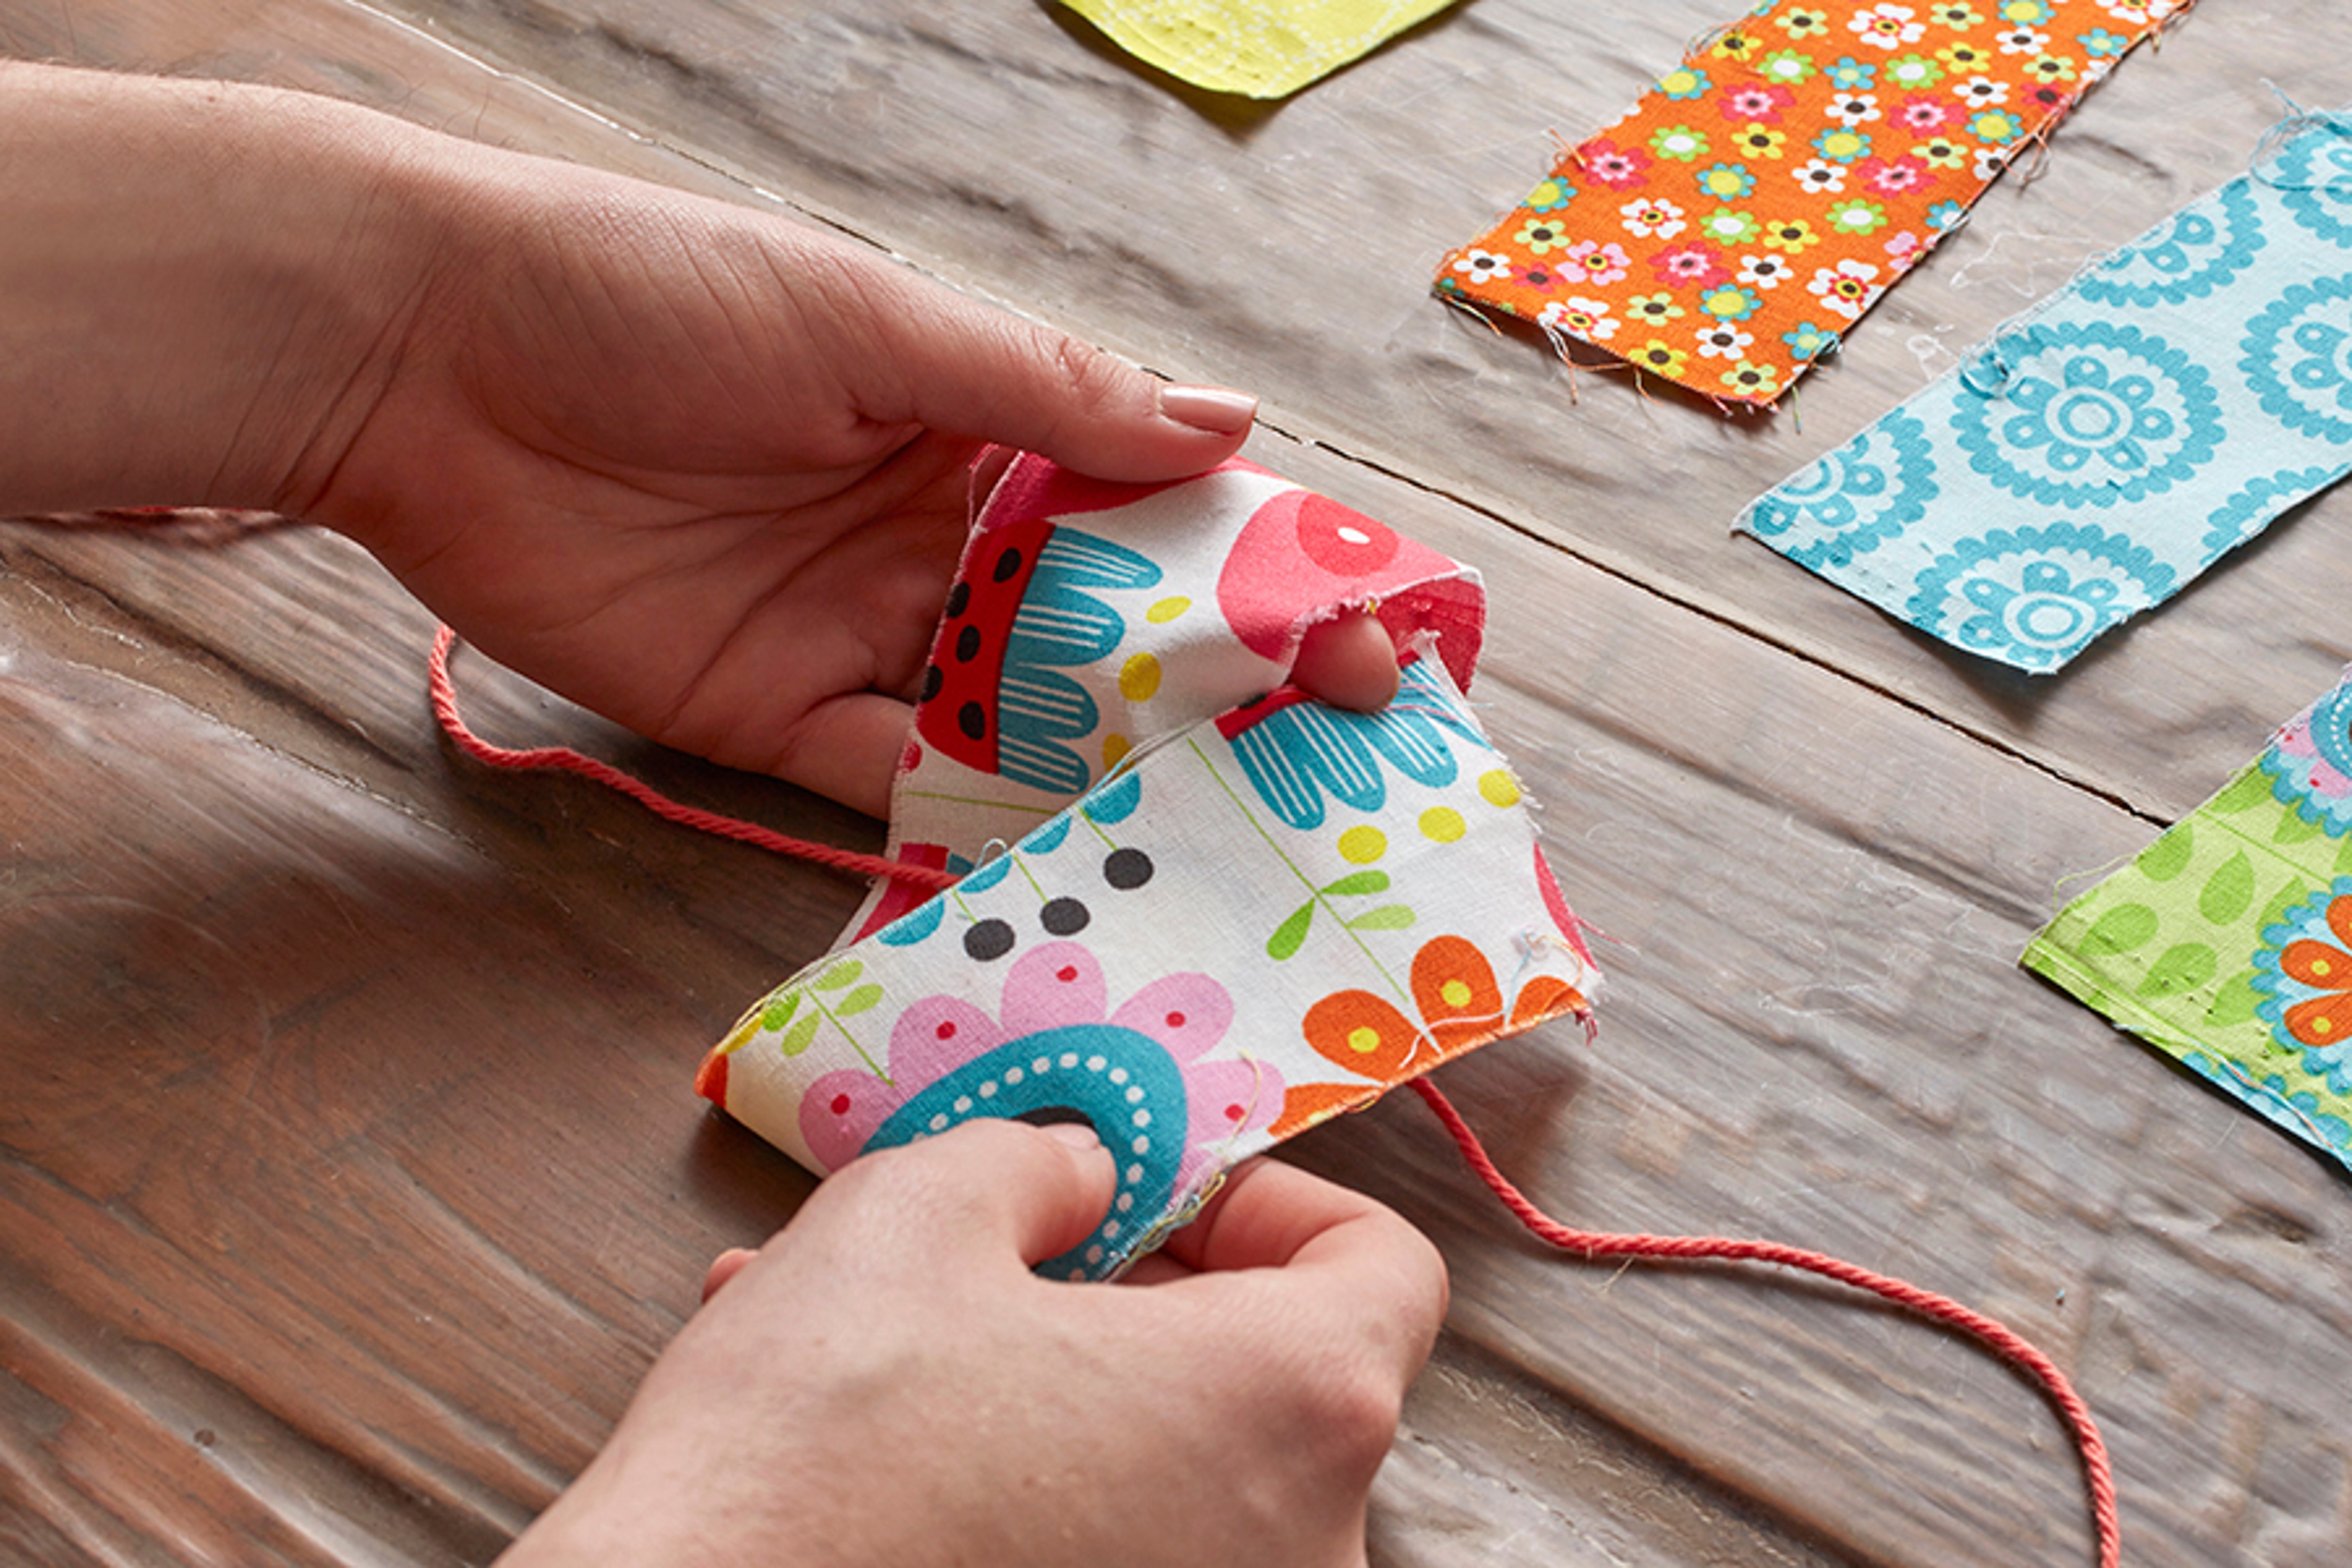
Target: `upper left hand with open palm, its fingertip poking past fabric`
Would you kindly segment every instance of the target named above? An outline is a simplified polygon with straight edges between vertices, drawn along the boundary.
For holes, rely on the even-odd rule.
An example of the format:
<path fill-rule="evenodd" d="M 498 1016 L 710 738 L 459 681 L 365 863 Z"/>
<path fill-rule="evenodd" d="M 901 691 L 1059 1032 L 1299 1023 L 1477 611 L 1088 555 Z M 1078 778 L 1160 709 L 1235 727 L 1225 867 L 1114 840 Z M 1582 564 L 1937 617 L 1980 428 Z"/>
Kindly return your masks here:
<path fill-rule="evenodd" d="M 0 510 L 341 529 L 492 658 L 880 813 L 976 454 L 1216 465 L 1171 388 L 767 214 L 301 94 L 0 66 Z M 1371 708 L 1369 616 L 1301 677 Z"/>

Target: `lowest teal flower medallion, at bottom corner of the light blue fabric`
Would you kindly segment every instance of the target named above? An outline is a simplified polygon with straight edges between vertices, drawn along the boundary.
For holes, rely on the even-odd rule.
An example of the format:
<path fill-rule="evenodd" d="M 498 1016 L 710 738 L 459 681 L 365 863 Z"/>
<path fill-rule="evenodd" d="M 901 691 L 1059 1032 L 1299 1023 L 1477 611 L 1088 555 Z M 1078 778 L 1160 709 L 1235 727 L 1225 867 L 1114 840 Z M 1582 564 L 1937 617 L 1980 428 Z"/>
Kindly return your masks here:
<path fill-rule="evenodd" d="M 1952 646 L 2053 670 L 2173 588 L 2173 569 L 2124 534 L 2051 522 L 1992 529 L 1936 557 L 1905 618 Z"/>

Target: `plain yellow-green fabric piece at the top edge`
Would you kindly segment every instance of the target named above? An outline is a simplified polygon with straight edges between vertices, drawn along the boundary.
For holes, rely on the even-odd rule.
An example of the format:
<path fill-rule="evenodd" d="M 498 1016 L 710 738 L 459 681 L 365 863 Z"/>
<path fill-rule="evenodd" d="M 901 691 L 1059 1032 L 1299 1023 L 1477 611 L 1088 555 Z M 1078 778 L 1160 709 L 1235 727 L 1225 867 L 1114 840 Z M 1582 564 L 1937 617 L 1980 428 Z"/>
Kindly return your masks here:
<path fill-rule="evenodd" d="M 1284 99 L 1451 2 L 1063 0 L 1145 66 L 1247 99 Z"/>

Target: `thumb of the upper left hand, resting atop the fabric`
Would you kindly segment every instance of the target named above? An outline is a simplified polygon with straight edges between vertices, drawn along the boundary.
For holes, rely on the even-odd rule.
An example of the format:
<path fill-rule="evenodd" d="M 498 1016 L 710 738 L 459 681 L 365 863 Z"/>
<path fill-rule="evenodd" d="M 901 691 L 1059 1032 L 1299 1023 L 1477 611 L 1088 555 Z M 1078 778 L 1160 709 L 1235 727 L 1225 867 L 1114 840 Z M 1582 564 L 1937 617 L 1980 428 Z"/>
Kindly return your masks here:
<path fill-rule="evenodd" d="M 1249 435 L 1258 400 L 1171 386 L 1054 327 L 964 299 L 875 256 L 816 273 L 833 367 L 858 411 L 1042 451 L 1096 480 L 1181 480 Z"/>

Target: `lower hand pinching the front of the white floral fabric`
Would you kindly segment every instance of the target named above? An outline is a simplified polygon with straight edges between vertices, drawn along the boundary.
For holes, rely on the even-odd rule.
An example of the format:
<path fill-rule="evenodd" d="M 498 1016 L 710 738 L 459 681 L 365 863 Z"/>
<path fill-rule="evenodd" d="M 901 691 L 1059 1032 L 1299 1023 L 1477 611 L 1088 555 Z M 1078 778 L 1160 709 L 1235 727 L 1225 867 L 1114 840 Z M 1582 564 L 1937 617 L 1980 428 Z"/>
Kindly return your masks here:
<path fill-rule="evenodd" d="M 1359 1568 L 1444 1316 L 1437 1251 L 1254 1161 L 1127 1284 L 1030 1274 L 1110 1192 L 1084 1128 L 971 1121 L 854 1161 L 713 1267 L 503 1568 Z"/>

